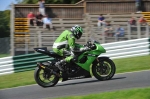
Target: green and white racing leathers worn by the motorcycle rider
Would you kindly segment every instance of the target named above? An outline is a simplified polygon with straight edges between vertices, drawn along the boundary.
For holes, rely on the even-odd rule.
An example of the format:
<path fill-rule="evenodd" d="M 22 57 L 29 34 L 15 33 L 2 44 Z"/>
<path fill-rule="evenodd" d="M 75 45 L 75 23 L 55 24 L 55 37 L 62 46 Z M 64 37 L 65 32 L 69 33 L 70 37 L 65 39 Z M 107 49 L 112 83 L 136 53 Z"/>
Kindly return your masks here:
<path fill-rule="evenodd" d="M 55 40 L 53 44 L 53 51 L 57 53 L 60 56 L 64 56 L 65 52 L 70 52 L 70 56 L 66 57 L 64 60 L 61 60 L 59 62 L 56 62 L 56 66 L 63 71 L 63 69 L 60 67 L 60 64 L 63 62 L 70 62 L 71 59 L 74 57 L 73 51 L 76 49 L 84 50 L 84 48 L 77 48 L 79 44 L 75 43 L 75 37 L 73 36 L 72 32 L 69 30 L 63 31 L 60 36 Z M 68 45 L 68 48 L 65 46 Z"/>

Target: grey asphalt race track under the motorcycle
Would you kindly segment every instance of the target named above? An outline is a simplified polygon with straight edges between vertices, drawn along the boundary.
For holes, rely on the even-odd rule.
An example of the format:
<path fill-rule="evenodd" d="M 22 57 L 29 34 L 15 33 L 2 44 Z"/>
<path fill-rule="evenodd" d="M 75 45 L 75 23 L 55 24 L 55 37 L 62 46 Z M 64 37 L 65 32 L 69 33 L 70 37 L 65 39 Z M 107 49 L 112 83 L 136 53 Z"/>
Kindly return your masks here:
<path fill-rule="evenodd" d="M 117 74 L 108 81 L 87 78 L 58 83 L 50 88 L 30 85 L 3 89 L 0 90 L 0 99 L 51 99 L 139 87 L 150 87 L 150 70 Z"/>

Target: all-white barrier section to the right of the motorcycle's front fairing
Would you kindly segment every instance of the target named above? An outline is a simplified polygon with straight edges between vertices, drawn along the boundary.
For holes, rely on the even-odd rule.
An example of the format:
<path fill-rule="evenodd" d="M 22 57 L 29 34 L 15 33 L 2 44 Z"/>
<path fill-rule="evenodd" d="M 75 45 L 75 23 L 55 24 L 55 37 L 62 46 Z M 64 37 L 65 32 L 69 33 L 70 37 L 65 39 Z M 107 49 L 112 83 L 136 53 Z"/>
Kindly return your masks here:
<path fill-rule="evenodd" d="M 132 56 L 149 55 L 150 43 L 149 38 L 128 40 L 115 43 L 102 44 L 106 49 L 106 53 L 100 56 L 109 56 L 112 59 L 125 58 Z"/>

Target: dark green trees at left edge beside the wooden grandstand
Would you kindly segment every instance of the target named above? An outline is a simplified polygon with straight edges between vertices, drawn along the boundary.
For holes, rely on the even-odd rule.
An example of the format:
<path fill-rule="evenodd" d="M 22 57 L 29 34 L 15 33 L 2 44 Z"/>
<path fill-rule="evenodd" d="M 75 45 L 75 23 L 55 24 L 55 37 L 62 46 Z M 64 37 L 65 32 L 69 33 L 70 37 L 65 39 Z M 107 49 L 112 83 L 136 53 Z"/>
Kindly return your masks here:
<path fill-rule="evenodd" d="M 0 38 L 10 35 L 10 10 L 0 11 Z"/>

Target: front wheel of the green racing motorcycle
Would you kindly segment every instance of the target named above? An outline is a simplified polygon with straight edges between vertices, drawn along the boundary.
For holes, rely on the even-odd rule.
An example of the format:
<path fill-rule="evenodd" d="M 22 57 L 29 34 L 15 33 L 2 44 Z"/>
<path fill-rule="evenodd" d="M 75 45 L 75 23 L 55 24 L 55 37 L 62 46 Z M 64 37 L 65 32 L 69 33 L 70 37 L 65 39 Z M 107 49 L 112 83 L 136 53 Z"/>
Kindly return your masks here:
<path fill-rule="evenodd" d="M 109 80 L 114 76 L 115 72 L 116 66 L 109 58 L 104 58 L 92 66 L 92 73 L 98 80 Z"/>

